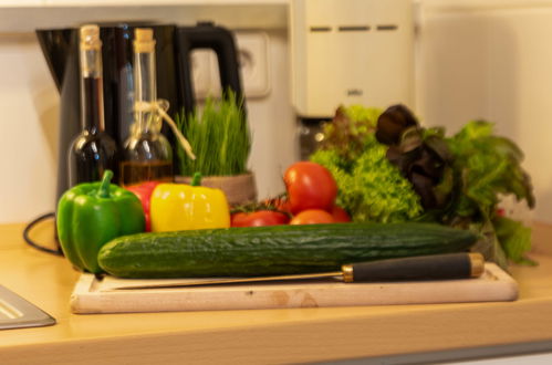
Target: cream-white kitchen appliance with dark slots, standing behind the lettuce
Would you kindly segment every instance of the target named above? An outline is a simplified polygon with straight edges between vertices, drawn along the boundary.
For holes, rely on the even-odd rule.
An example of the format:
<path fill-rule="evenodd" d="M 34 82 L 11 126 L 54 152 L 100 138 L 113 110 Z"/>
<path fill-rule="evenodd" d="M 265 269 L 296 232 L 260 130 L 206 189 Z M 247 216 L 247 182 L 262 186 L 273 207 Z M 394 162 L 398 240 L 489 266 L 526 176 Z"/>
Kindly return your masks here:
<path fill-rule="evenodd" d="M 293 0 L 289 23 L 302 157 L 339 105 L 414 106 L 412 0 Z"/>

